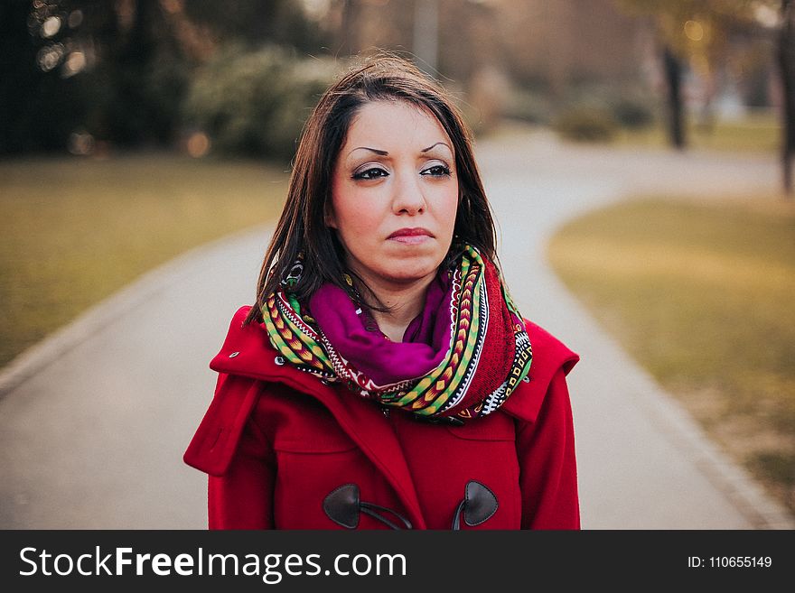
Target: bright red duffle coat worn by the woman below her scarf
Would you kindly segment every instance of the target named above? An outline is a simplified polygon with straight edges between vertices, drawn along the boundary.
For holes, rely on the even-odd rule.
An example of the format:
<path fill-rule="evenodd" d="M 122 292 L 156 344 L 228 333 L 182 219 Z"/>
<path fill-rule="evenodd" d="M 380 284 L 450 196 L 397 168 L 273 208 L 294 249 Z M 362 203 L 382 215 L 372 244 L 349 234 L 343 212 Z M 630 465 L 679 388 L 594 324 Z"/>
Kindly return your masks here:
<path fill-rule="evenodd" d="M 462 529 L 579 528 L 566 389 L 578 357 L 544 329 L 526 322 L 529 381 L 497 412 L 450 426 L 399 410 L 387 416 L 284 364 L 264 326 L 242 326 L 248 310 L 238 310 L 210 363 L 220 373 L 215 397 L 184 456 L 210 474 L 210 529 L 342 529 L 323 500 L 345 484 L 416 529 L 450 529 L 470 480 L 487 486 L 498 506 Z M 359 528 L 386 525 L 361 514 Z"/>

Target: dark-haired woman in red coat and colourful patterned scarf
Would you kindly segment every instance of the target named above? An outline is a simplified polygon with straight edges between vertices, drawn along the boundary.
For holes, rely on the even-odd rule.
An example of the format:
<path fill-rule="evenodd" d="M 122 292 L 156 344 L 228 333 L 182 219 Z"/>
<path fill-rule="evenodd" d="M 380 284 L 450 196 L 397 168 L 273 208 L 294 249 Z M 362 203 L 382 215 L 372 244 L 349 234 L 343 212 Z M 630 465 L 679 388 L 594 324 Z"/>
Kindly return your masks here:
<path fill-rule="evenodd" d="M 391 56 L 329 88 L 185 453 L 210 528 L 579 528 L 577 356 L 495 261 L 444 91 Z"/>

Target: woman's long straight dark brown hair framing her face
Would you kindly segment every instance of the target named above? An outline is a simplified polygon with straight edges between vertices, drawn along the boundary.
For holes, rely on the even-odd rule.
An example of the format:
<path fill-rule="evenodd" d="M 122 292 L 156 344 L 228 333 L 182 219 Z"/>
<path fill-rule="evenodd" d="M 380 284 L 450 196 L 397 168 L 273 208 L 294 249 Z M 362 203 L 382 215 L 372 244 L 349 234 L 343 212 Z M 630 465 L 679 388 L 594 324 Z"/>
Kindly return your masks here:
<path fill-rule="evenodd" d="M 331 203 L 332 172 L 351 121 L 372 101 L 405 101 L 433 114 L 453 142 L 458 176 L 458 210 L 454 242 L 443 265 L 453 264 L 459 243 L 476 247 L 495 262 L 496 235 L 491 208 L 472 153 L 472 133 L 444 88 L 411 62 L 380 52 L 350 69 L 323 96 L 304 124 L 295 153 L 285 208 L 262 263 L 257 281 L 257 304 L 246 318 L 262 321 L 267 295 L 303 254 L 304 270 L 293 292 L 300 302 L 323 283 L 345 289 L 345 253 L 336 231 L 325 225 Z M 367 289 L 366 286 L 364 286 Z"/>

